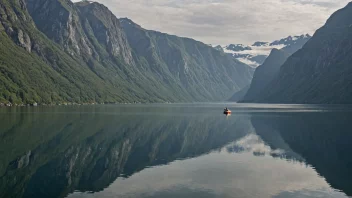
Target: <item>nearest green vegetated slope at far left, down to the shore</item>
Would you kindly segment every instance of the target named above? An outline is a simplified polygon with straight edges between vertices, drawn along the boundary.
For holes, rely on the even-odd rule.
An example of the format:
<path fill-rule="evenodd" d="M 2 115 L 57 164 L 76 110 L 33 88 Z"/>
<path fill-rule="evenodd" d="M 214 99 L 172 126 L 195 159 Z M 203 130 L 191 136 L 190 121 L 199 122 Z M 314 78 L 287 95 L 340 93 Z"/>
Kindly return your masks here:
<path fill-rule="evenodd" d="M 127 102 L 138 98 L 158 101 L 124 81 L 121 77 L 124 72 L 111 69 L 116 68 L 116 64 L 111 66 L 114 63 L 106 61 L 102 65 L 92 60 L 88 66 L 82 59 L 65 53 L 34 27 L 28 20 L 29 14 L 21 10 L 19 1 L 1 4 L 0 13 L 5 16 L 1 22 L 15 31 L 22 30 L 29 35 L 32 44 L 39 46 L 36 53 L 29 53 L 14 43 L 16 38 L 9 37 L 4 28 L 0 28 L 1 102 Z"/>

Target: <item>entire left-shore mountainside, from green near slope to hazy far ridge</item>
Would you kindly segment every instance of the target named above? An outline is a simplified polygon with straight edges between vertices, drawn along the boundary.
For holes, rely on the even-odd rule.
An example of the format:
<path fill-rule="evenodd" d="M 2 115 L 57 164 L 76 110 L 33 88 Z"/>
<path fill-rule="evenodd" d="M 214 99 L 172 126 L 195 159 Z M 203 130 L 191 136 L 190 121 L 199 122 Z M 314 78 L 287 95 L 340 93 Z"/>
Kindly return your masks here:
<path fill-rule="evenodd" d="M 2 0 L 0 16 L 0 103 L 215 101 L 252 77 L 200 42 L 122 29 L 98 3 Z"/>

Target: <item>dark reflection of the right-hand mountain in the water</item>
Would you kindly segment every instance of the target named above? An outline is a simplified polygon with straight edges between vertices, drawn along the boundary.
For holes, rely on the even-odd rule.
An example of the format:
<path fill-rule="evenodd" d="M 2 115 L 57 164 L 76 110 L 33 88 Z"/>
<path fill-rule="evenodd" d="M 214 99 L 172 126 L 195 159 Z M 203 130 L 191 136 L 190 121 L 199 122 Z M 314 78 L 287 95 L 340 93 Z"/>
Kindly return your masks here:
<path fill-rule="evenodd" d="M 351 113 L 266 114 L 251 120 L 272 149 L 284 150 L 287 158 L 304 160 L 333 188 L 352 195 Z"/>

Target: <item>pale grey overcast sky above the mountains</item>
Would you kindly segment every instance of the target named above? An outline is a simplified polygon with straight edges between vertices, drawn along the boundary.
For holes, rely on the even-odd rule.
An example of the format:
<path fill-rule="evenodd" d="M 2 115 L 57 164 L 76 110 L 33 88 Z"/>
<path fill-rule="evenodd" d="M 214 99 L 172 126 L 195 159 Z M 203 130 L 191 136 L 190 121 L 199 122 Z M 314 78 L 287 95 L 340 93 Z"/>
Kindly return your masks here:
<path fill-rule="evenodd" d="M 146 29 L 225 45 L 313 34 L 350 0 L 95 1 Z"/>

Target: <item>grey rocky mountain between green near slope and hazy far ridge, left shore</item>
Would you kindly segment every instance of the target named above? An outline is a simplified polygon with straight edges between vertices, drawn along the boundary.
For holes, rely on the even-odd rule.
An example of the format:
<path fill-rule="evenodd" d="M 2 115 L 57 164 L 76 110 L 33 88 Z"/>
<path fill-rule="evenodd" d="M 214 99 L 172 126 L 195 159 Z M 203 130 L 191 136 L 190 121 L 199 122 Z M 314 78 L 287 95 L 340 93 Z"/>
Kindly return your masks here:
<path fill-rule="evenodd" d="M 118 19 L 105 6 L 90 2 L 73 4 L 69 0 L 26 3 L 39 30 L 71 57 L 81 59 L 81 66 L 111 84 L 109 92 L 121 98 L 103 102 L 180 100 L 167 93 L 162 83 L 139 71 Z"/>

